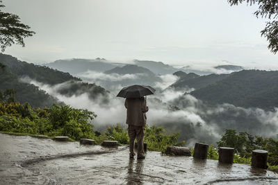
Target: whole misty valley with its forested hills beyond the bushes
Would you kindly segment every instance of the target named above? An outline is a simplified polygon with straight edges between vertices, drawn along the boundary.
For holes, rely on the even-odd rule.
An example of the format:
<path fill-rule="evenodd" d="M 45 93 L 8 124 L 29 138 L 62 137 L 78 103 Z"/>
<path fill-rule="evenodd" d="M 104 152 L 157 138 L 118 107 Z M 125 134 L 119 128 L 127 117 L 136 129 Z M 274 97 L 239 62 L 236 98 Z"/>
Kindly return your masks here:
<path fill-rule="evenodd" d="M 49 69 L 3 54 L 1 62 L 17 76 L 18 83 L 32 85 L 44 94 L 33 102 L 29 100 L 31 105 L 38 106 L 36 101 L 51 98 L 49 104 L 88 109 L 97 114 L 92 125 L 100 131 L 108 125 L 126 125 L 124 98 L 116 95 L 122 87 L 142 84 L 156 89 L 154 95 L 147 96 L 147 124 L 180 132 L 180 141 L 185 140 L 186 146 L 196 141 L 215 144 L 229 128 L 268 137 L 277 134 L 277 71 L 235 70 L 202 75 L 162 62 L 134 60 L 120 64 L 104 59 L 59 60 L 48 64 Z M 54 64 L 64 72 L 57 71 Z M 49 72 L 42 76 L 42 71 Z M 51 73 L 56 75 L 48 75 Z M 253 89 L 246 91 L 243 87 Z M 22 103 L 26 100 L 19 98 Z"/>

